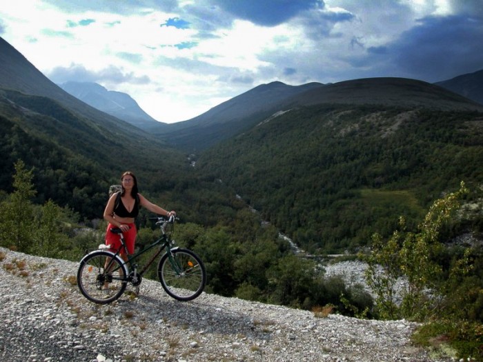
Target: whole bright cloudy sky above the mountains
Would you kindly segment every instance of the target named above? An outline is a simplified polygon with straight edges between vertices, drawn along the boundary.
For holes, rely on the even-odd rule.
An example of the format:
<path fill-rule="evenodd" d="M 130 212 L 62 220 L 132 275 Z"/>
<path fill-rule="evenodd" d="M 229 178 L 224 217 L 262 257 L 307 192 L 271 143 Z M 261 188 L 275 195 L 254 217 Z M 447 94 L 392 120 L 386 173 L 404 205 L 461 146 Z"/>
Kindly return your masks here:
<path fill-rule="evenodd" d="M 99 83 L 173 123 L 272 81 L 482 70 L 483 0 L 15 0 L 0 37 L 55 83 Z"/>

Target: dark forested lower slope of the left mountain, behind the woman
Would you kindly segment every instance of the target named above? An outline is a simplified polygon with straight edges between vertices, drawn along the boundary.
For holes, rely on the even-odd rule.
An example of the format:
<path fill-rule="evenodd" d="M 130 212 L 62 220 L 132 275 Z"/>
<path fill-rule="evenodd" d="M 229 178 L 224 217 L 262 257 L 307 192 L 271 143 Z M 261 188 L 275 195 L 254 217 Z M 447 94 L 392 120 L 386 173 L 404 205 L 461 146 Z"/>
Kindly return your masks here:
<path fill-rule="evenodd" d="M 47 97 L 0 90 L 0 128 L 0 189 L 12 191 L 14 163 L 21 159 L 34 168 L 36 203 L 52 199 L 87 220 L 101 217 L 108 186 L 125 170 L 140 177 L 141 191 L 157 197 L 189 179 L 181 152 L 148 134 L 130 136 L 92 122 Z"/>

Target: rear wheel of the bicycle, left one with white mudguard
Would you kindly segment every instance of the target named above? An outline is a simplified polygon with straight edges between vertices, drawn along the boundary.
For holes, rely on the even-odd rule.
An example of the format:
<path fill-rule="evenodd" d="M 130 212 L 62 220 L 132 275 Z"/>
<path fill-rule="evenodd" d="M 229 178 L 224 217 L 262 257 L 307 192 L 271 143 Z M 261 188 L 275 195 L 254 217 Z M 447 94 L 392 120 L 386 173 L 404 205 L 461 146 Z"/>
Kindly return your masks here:
<path fill-rule="evenodd" d="M 110 270 L 115 270 L 114 274 L 104 270 L 108 258 L 112 260 Z M 127 275 L 128 268 L 120 257 L 106 250 L 97 250 L 82 258 L 77 270 L 77 285 L 88 300 L 97 304 L 108 304 L 118 299 L 126 290 Z"/>

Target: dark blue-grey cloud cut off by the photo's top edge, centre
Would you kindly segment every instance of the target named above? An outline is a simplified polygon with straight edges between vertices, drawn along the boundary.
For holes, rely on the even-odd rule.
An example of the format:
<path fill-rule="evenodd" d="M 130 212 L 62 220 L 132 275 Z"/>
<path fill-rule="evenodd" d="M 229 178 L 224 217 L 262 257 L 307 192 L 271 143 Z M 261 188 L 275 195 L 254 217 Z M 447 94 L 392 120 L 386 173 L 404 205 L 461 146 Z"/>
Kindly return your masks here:
<path fill-rule="evenodd" d="M 324 7 L 321 0 L 211 0 L 210 3 L 260 26 L 276 26 L 300 12 Z"/>

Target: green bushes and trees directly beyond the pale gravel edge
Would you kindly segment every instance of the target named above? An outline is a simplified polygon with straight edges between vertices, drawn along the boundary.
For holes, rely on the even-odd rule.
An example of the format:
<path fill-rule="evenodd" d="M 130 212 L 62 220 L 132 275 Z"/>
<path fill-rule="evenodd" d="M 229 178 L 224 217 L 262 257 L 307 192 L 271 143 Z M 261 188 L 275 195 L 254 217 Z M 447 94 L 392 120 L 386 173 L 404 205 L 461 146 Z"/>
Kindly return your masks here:
<path fill-rule="evenodd" d="M 79 214 L 52 200 L 33 203 L 37 191 L 32 169 L 26 169 L 23 161 L 14 168 L 14 190 L 0 199 L 4 221 L 0 246 L 77 262 L 103 243 L 104 221 L 86 228 Z M 366 278 L 373 294 L 362 285 L 346 285 L 341 276 L 325 276 L 320 263 L 294 254 L 273 225 L 262 223 L 257 212 L 243 205 L 231 208 L 232 218 L 216 225 L 181 220 L 175 239 L 204 260 L 208 293 L 304 308 L 319 315 L 426 321 L 415 336 L 418 343 L 444 333 L 461 356 L 471 355 L 478 361 L 483 357 L 483 248 L 444 246 L 444 241 L 473 228 L 481 218 L 471 212 L 455 213 L 460 203 L 468 202 L 469 193 L 462 183 L 460 190 L 435 201 L 415 231 L 406 230 L 402 218 L 389 239 L 373 234 L 371 252 L 356 256 L 370 265 Z M 152 225 L 141 225 L 137 248 L 154 241 L 157 233 Z M 375 272 L 380 266 L 382 274 Z M 156 279 L 151 268 L 146 277 Z M 397 304 L 392 289 L 382 285 L 391 286 L 400 276 L 408 280 L 408 289 L 402 304 Z M 433 298 L 427 298 L 427 288 Z"/>

